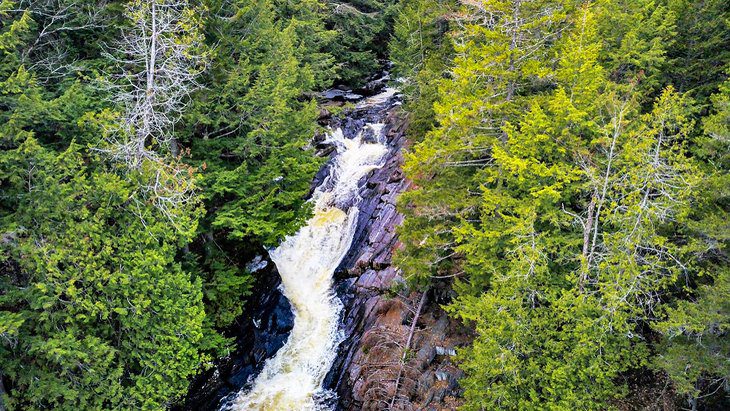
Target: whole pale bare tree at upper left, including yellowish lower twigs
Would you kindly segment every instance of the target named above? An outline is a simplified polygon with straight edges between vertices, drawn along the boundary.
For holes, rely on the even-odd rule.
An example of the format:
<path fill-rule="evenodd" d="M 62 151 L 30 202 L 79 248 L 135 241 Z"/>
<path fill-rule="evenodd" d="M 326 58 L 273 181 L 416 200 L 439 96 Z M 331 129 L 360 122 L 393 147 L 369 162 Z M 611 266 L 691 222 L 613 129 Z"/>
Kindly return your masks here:
<path fill-rule="evenodd" d="M 142 172 L 144 201 L 175 223 L 195 200 L 193 169 L 178 161 L 174 125 L 206 67 L 199 10 L 185 0 L 132 0 L 126 13 L 131 25 L 106 53 L 117 70 L 104 83 L 122 115 L 98 150 Z"/>

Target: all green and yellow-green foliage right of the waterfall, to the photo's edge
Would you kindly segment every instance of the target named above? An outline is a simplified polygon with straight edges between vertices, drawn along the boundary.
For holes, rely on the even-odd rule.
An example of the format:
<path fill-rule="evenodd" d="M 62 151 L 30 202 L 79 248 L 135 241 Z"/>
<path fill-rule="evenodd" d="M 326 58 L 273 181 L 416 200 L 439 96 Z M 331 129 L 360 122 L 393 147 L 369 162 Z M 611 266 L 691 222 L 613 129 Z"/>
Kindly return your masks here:
<path fill-rule="evenodd" d="M 710 3 L 700 18 L 719 13 Z M 406 107 L 417 136 L 430 128 L 406 157 L 415 187 L 400 199 L 396 263 L 412 283 L 454 279 L 447 309 L 477 335 L 459 355 L 464 408 L 607 409 L 629 392 L 622 376 L 650 366 L 681 394 L 720 388 L 727 90 L 698 135 L 702 111 L 666 83 L 688 67 L 671 53 L 693 36 L 677 34 L 690 11 L 437 5 L 402 5 L 393 43 L 406 97 L 420 100 Z M 456 24 L 442 34 L 435 22 L 447 18 Z M 419 76 L 434 78 L 426 58 L 444 58 L 446 37 L 450 76 L 434 92 Z"/>

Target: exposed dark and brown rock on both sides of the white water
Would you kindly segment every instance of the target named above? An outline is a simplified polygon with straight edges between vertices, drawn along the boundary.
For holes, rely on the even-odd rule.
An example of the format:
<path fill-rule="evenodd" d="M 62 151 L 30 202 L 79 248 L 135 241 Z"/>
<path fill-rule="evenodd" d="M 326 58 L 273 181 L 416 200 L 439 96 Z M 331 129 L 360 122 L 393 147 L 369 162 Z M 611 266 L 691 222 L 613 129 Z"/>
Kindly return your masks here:
<path fill-rule="evenodd" d="M 356 92 L 324 93 L 325 97 L 336 95 L 329 99 L 330 107 L 350 101 L 342 98 L 342 93 L 355 101 L 355 107 L 346 109 L 342 116 L 330 116 L 325 108 L 325 124 L 341 128 L 345 137 L 352 138 L 364 124 L 380 121 L 389 149 L 384 166 L 360 184 L 355 237 L 335 279 L 337 296 L 344 305 L 340 325 L 343 342 L 324 384 L 337 393 L 337 402 L 331 404 L 335 409 L 453 409 L 458 405 L 460 372 L 452 356 L 454 348 L 466 342 L 468 333 L 440 308 L 450 297 L 448 287 L 433 287 L 425 296 L 408 291 L 402 287 L 399 271 L 391 265 L 393 252 L 399 247 L 396 229 L 403 219 L 396 210 L 396 200 L 409 187 L 401 170 L 407 122 L 399 114 L 397 94 L 382 93 L 384 79 L 387 73 Z M 361 96 L 376 93 L 386 100 L 362 104 L 363 99 L 374 97 Z M 315 144 L 320 155 L 332 151 L 323 139 L 316 139 Z M 315 177 L 313 187 L 321 183 L 328 166 Z M 278 289 L 275 265 L 262 252 L 249 269 L 257 271 L 258 281 L 246 314 L 231 330 L 235 352 L 198 376 L 178 409 L 217 409 L 222 399 L 250 384 L 266 359 L 286 342 L 293 316 Z M 403 354 L 406 343 L 407 351 L 414 355 Z"/>

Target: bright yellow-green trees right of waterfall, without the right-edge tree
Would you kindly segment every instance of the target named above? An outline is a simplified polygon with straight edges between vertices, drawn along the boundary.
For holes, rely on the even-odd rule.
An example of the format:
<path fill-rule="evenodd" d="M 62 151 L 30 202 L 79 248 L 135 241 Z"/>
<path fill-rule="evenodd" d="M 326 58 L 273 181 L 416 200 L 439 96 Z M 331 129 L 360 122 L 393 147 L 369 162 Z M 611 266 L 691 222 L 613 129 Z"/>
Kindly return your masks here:
<path fill-rule="evenodd" d="M 456 37 L 454 78 L 436 105 L 445 115 L 407 161 L 417 188 L 404 195 L 398 262 L 421 281 L 456 278 L 448 309 L 477 334 L 460 353 L 466 409 L 610 408 L 628 394 L 619 377 L 651 360 L 643 325 L 661 296 L 704 270 L 703 241 L 686 240 L 697 238 L 708 181 L 688 151 L 692 102 L 667 87 L 644 111 L 664 64 L 657 39 L 669 29 L 635 28 L 628 21 L 648 17 L 634 10 L 615 18 L 635 33 L 606 42 L 603 19 L 615 7 L 565 7 L 560 35 L 540 52 L 529 39 L 546 36 L 516 35 L 515 61 L 542 57 L 514 72 L 509 52 L 476 57 L 510 50 L 508 30 L 466 26 L 492 41 Z M 551 33 L 541 10 L 521 9 L 520 21 Z M 475 142 L 481 157 L 462 154 Z M 442 171 L 445 159 L 478 171 Z"/>

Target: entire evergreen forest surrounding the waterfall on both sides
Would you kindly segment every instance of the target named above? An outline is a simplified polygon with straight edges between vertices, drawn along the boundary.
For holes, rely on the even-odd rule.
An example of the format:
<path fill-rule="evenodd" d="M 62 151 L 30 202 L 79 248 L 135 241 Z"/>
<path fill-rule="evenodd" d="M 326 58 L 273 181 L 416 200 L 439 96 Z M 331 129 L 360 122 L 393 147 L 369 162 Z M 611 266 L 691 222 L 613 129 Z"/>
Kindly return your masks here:
<path fill-rule="evenodd" d="M 468 343 L 363 409 L 730 409 L 726 0 L 0 0 L 0 410 L 184 404 L 385 69 L 390 292 Z"/>

